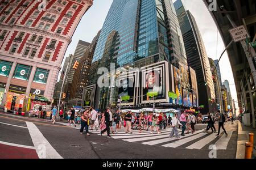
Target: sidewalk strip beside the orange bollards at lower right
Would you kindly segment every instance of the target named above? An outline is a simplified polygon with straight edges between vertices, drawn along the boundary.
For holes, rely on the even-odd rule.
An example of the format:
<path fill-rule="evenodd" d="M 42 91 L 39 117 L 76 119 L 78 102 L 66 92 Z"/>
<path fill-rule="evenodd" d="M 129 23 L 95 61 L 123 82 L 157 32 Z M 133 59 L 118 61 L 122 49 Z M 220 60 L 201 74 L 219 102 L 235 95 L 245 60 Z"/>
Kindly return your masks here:
<path fill-rule="evenodd" d="M 249 142 L 249 133 L 254 133 L 254 151 L 252 158 L 256 158 L 256 129 L 253 129 L 251 126 L 244 126 L 241 122 L 238 122 L 236 159 L 245 158 L 245 142 Z"/>

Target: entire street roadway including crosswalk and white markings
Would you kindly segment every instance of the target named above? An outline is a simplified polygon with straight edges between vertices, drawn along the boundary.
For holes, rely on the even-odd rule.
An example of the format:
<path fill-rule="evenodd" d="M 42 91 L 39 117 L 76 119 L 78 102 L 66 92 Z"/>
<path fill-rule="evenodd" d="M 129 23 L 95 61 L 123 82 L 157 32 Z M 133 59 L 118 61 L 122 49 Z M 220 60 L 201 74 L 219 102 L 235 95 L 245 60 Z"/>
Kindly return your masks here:
<path fill-rule="evenodd" d="M 51 124 L 36 118 L 24 118 L 0 113 L 0 158 L 202 158 L 208 159 L 210 145 L 217 158 L 236 158 L 237 122 L 225 123 L 228 137 L 204 133 L 205 124 L 197 124 L 194 134 L 186 134 L 180 141 L 168 138 L 171 128 L 162 134 L 124 129 L 111 134 L 112 138 L 89 130 L 90 136 L 79 133 L 67 123 Z M 215 124 L 217 128 L 217 124 Z M 181 129 L 179 129 L 179 133 Z"/>

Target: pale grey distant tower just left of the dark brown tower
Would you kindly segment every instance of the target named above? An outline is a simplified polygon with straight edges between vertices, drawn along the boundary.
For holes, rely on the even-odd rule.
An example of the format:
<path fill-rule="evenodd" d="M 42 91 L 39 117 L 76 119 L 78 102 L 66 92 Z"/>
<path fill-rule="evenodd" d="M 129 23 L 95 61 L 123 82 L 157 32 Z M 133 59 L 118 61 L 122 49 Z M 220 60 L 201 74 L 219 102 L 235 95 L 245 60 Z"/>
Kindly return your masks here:
<path fill-rule="evenodd" d="M 82 40 L 79 40 L 77 46 L 76 46 L 76 50 L 75 53 L 73 54 L 73 60 L 71 62 L 71 65 L 69 65 L 69 67 L 71 67 L 71 70 L 69 71 L 68 77 L 67 77 L 67 83 L 71 84 L 72 80 L 73 80 L 73 76 L 75 74 L 75 70 L 72 69 L 73 64 L 78 61 L 80 62 L 81 58 L 84 56 L 85 50 L 87 49 L 87 47 L 90 45 L 89 42 L 85 42 Z"/>

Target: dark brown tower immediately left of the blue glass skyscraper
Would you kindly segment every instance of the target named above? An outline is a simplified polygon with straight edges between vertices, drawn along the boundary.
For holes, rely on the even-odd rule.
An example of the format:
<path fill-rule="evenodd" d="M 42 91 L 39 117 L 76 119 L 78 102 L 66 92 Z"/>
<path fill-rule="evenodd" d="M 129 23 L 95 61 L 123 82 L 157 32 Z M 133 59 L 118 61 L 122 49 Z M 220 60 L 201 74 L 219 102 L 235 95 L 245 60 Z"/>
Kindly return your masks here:
<path fill-rule="evenodd" d="M 92 65 L 92 58 L 99 36 L 100 31 L 97 33 L 97 36 L 94 37 L 92 44 L 90 44 L 85 50 L 84 56 L 80 59 L 80 64 L 73 76 L 71 96 L 69 97 L 68 107 L 72 105 L 82 106 L 82 95 L 84 87 L 88 85 L 89 75 L 91 74 L 89 72 L 90 66 Z"/>

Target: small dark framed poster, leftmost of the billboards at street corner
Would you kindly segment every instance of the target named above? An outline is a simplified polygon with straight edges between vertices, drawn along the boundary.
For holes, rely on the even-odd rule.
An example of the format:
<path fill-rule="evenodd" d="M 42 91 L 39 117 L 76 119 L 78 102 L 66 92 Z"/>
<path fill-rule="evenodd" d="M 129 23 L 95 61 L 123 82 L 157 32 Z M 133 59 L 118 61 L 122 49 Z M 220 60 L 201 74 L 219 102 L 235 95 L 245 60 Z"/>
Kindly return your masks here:
<path fill-rule="evenodd" d="M 94 95 L 96 90 L 96 84 L 85 87 L 83 97 L 83 107 L 90 107 L 94 105 Z"/>

